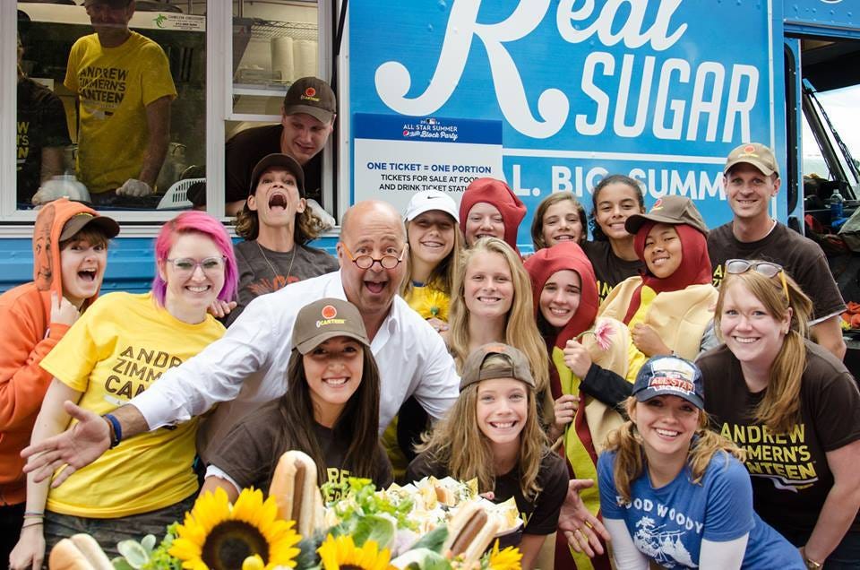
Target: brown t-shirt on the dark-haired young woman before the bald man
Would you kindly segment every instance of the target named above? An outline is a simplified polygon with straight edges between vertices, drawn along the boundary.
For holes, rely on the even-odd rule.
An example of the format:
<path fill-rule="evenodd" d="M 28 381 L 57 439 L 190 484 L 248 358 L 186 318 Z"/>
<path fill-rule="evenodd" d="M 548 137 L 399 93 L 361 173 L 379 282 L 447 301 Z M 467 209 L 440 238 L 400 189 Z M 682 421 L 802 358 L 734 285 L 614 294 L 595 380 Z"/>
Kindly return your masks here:
<path fill-rule="evenodd" d="M 242 488 L 254 487 L 268 491 L 280 456 L 294 449 L 279 436 L 283 422 L 278 401 L 265 404 L 230 429 L 212 454 L 211 464 L 227 473 Z M 344 465 L 349 442 L 336 439 L 333 430 L 328 427 L 316 422 L 313 424 L 325 461 L 325 465 L 317 465 L 317 469 L 325 470 L 323 481 L 346 484 L 347 479 L 353 476 Z M 391 485 L 391 463 L 382 445 L 376 446 L 374 471 L 370 479 L 377 488 Z M 337 498 L 325 497 L 326 501 Z"/>

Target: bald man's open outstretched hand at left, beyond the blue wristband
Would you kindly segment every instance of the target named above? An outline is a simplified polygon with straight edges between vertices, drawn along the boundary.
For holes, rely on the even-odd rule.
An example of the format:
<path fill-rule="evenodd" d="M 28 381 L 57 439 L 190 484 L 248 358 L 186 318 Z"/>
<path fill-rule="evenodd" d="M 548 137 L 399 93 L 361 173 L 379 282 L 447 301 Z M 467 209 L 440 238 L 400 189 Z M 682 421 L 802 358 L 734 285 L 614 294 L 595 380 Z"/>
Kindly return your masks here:
<path fill-rule="evenodd" d="M 21 456 L 29 460 L 24 472 L 33 473 L 37 483 L 66 466 L 51 483 L 51 487 L 58 487 L 74 471 L 96 461 L 110 447 L 110 428 L 105 419 L 79 408 L 73 402 L 66 401 L 63 407 L 78 423 L 62 434 L 25 447 L 21 452 Z"/>

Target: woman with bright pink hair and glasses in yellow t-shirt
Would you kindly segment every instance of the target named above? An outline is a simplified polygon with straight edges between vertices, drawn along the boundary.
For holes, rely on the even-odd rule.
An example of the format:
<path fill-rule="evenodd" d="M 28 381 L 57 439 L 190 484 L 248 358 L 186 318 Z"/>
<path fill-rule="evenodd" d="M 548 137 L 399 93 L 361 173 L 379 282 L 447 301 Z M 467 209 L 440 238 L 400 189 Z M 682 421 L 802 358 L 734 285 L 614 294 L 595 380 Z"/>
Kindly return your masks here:
<path fill-rule="evenodd" d="M 39 365 L 54 379 L 31 443 L 64 431 L 79 414 L 95 413 L 107 422 L 114 444 L 62 487 L 49 489 L 48 480 L 36 483 L 28 476 L 25 522 L 11 568 L 41 566 L 46 546 L 78 532 L 90 533 L 116 556 L 119 540 L 160 535 L 193 504 L 197 420 L 119 445 L 121 427 L 111 412 L 224 333 L 207 308 L 216 298 L 235 295 L 236 258 L 223 225 L 203 212 L 168 221 L 155 254 L 149 293 L 100 297 Z M 83 411 L 73 417 L 66 402 Z"/>

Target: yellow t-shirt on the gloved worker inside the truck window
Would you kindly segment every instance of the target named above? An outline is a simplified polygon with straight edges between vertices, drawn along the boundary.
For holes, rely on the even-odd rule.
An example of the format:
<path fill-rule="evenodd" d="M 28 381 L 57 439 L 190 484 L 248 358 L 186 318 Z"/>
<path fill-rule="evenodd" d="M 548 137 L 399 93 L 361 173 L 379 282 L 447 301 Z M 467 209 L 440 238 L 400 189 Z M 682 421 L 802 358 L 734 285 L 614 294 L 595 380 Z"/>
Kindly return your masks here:
<path fill-rule="evenodd" d="M 176 98 L 164 50 L 132 32 L 123 45 L 103 48 L 90 34 L 74 42 L 64 85 L 80 99 L 77 176 L 99 194 L 140 176 L 149 142 L 146 106 Z"/>

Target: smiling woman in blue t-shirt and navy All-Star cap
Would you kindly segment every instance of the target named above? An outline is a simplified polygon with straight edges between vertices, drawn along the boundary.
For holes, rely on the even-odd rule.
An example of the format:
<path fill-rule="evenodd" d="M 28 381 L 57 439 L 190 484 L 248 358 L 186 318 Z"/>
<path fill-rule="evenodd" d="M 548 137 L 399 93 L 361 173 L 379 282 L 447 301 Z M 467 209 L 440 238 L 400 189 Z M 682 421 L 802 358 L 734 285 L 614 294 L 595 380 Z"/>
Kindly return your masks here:
<path fill-rule="evenodd" d="M 650 358 L 626 401 L 630 419 L 598 461 L 615 567 L 804 568 L 796 548 L 753 511 L 744 453 L 708 429 L 701 372 Z"/>

